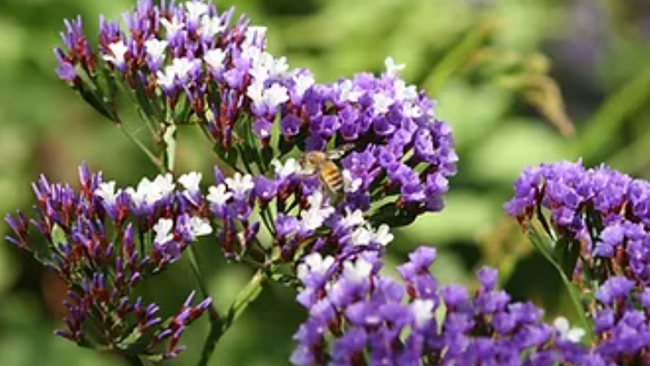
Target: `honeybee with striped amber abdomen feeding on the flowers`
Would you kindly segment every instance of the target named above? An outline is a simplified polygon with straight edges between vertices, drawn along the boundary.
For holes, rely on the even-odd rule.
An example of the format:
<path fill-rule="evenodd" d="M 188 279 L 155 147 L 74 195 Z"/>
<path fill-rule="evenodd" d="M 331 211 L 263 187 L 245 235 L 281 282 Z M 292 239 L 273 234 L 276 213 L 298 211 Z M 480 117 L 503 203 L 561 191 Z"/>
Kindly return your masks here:
<path fill-rule="evenodd" d="M 343 192 L 343 174 L 335 163 L 350 151 L 354 145 L 345 144 L 335 150 L 308 151 L 300 159 L 303 175 L 318 174 L 321 182 L 334 194 Z"/>

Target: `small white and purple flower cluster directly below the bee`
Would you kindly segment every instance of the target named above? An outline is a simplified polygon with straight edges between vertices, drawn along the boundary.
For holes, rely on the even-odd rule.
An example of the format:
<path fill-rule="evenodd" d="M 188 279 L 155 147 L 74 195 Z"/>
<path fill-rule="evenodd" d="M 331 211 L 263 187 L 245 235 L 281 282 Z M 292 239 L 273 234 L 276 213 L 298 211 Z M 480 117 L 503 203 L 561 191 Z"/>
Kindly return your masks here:
<path fill-rule="evenodd" d="M 273 177 L 236 173 L 226 178 L 215 169 L 217 184 L 209 188 L 206 199 L 226 254 L 238 256 L 256 244 L 261 224 L 272 235 L 272 246 L 279 249 L 279 257 L 272 260 L 285 263 L 310 252 L 345 254 L 359 248 L 379 249 L 392 240 L 388 226 L 382 224 L 375 230 L 363 211 L 335 208 L 318 179 L 301 176 L 294 159 L 272 164 Z M 257 220 L 251 219 L 255 207 L 260 208 Z"/>

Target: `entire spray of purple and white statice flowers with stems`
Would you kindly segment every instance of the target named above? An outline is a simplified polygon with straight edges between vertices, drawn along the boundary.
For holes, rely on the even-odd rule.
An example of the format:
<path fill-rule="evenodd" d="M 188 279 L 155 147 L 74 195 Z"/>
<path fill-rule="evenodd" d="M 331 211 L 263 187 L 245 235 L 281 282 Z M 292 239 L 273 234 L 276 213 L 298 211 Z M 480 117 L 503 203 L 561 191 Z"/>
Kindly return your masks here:
<path fill-rule="evenodd" d="M 650 363 L 647 182 L 580 162 L 522 173 L 506 211 L 557 267 L 580 315 L 578 326 L 549 324 L 498 289 L 496 269 L 481 268 L 475 290 L 440 283 L 431 246 L 411 252 L 399 278 L 384 270 L 392 229 L 442 211 L 457 173 L 452 130 L 400 77 L 404 65 L 388 57 L 378 75 L 319 83 L 267 51 L 265 27 L 204 0 L 140 0 L 120 20 L 100 17 L 97 39 L 77 17 L 61 39 L 59 78 L 159 175 L 128 187 L 81 164 L 77 184 L 40 177 L 33 212 L 7 215 L 7 241 L 68 287 L 58 335 L 142 364 L 196 347 L 207 365 L 273 281 L 305 309 L 288 360 L 298 366 Z M 126 128 L 124 100 L 149 138 Z M 202 133 L 212 171 L 177 171 L 179 129 Z M 254 269 L 226 309 L 195 253 L 209 241 Z M 162 309 L 141 290 L 171 268 L 197 288 Z M 204 342 L 183 345 L 202 316 Z"/>

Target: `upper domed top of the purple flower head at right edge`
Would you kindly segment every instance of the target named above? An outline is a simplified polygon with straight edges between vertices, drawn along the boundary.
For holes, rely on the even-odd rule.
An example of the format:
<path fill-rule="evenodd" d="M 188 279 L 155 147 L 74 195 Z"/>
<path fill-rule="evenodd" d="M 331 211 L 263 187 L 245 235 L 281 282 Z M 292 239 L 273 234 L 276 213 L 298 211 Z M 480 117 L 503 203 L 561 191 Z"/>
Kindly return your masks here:
<path fill-rule="evenodd" d="M 524 224 L 537 218 L 556 240 L 580 242 L 580 264 L 599 275 L 650 283 L 650 183 L 605 166 L 542 164 L 522 173 L 506 211 Z"/>

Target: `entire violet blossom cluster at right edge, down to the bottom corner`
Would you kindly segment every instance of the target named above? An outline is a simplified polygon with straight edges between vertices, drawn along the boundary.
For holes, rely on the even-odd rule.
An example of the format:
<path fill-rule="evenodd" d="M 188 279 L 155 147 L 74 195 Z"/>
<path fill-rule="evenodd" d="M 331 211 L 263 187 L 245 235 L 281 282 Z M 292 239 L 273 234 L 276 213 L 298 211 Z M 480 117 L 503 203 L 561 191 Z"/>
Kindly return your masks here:
<path fill-rule="evenodd" d="M 650 364 L 650 183 L 578 162 L 526 169 L 506 211 L 542 226 L 554 259 L 592 299 L 595 352 L 617 365 Z M 568 258 L 568 260 L 567 260 Z"/>

